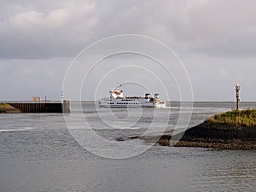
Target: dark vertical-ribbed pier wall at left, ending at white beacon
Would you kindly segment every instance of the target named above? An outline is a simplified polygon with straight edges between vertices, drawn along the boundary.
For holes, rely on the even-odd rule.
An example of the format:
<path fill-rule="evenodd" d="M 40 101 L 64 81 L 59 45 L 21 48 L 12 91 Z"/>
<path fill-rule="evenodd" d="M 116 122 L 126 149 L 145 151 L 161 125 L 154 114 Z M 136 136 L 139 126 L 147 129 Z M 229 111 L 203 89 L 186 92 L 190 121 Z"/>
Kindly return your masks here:
<path fill-rule="evenodd" d="M 20 109 L 21 113 L 70 113 L 70 103 L 61 102 L 7 102 L 10 106 Z"/>

